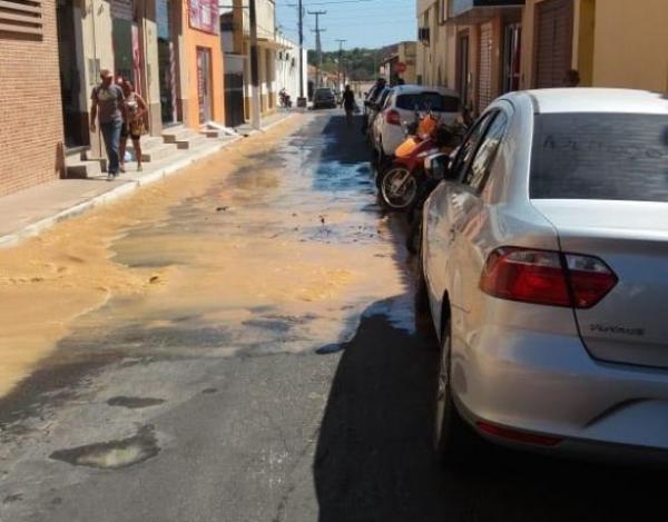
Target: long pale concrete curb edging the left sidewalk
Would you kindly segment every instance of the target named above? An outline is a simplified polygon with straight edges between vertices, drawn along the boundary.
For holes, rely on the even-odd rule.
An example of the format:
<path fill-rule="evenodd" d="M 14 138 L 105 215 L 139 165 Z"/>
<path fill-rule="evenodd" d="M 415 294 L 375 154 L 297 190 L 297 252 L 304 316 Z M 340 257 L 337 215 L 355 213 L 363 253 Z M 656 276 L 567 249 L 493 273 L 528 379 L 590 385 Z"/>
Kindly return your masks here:
<path fill-rule="evenodd" d="M 282 118 L 278 121 L 273 121 L 272 124 L 264 127 L 262 129 L 262 131 L 269 130 L 271 128 L 273 128 L 279 124 L 283 124 L 284 121 L 288 120 L 292 117 L 294 117 L 293 114 L 287 115 L 285 118 Z M 254 136 L 255 134 L 258 134 L 258 132 L 259 131 L 255 130 L 252 134 L 249 134 L 248 136 Z M 119 185 L 118 187 L 116 187 L 107 193 L 95 196 L 95 197 L 90 198 L 88 201 L 79 203 L 77 205 L 71 206 L 70 208 L 66 208 L 65 210 L 61 210 L 61 211 L 55 214 L 53 216 L 42 218 L 36 223 L 31 223 L 30 225 L 24 226 L 20 230 L 0 236 L 0 249 L 11 248 L 13 246 L 17 246 L 23 239 L 27 239 L 27 238 L 33 237 L 33 236 L 38 236 L 43 230 L 51 228 L 53 225 L 56 225 L 60 221 L 65 221 L 72 217 L 80 216 L 81 214 L 85 214 L 100 205 L 110 203 L 115 199 L 118 199 L 122 196 L 134 193 L 139 187 L 144 187 L 145 185 L 149 185 L 151 183 L 159 181 L 160 179 L 164 179 L 167 176 L 177 174 L 178 171 L 190 166 L 195 161 L 198 161 L 203 158 L 206 158 L 207 156 L 218 152 L 219 150 L 223 150 L 243 139 L 244 139 L 244 136 L 235 136 L 229 141 L 224 141 L 222 144 L 212 145 L 210 147 L 207 147 L 204 150 L 199 150 L 198 152 L 193 154 L 191 156 L 181 158 L 178 161 L 175 161 L 166 167 L 160 168 L 159 170 L 156 170 L 155 173 L 147 174 L 146 176 L 143 176 L 140 179 L 127 180 L 124 185 Z"/>

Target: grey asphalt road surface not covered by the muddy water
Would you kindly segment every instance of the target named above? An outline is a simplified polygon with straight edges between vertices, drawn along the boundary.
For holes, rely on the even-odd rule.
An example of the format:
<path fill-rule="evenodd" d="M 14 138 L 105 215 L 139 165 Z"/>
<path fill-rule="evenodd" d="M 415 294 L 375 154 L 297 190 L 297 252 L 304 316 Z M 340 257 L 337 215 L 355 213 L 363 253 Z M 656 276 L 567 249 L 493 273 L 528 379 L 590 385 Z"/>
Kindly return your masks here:
<path fill-rule="evenodd" d="M 266 348 L 297 321 L 265 309 L 234 333 L 189 316 L 150 331 L 141 317 L 115 321 L 135 309 L 128 302 L 90 314 L 0 401 L 1 521 L 609 521 L 662 508 L 660 472 L 489 446 L 466 469 L 441 470 L 430 449 L 434 339 L 413 307 L 403 224 L 374 205 L 369 151 L 337 111 L 310 116 L 281 147 L 255 159 L 283 165 L 287 149 L 308 148 L 305 199 L 325 191 L 385 219 L 391 234 L 364 248 L 390 247 L 404 294 L 365 303 L 348 342 L 304 351 Z M 171 219 L 205 226 L 187 201 Z M 323 244 L 362 240 L 346 234 Z M 121 260 L 132 235 L 146 230 L 119 244 Z M 245 337 L 243 349 L 222 348 Z"/>

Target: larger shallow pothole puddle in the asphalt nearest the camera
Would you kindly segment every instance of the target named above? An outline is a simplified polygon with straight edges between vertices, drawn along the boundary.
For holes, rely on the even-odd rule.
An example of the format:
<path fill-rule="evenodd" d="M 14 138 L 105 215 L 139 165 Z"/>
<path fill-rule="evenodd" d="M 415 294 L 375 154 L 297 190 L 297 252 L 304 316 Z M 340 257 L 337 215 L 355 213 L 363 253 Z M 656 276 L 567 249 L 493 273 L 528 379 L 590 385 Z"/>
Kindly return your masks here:
<path fill-rule="evenodd" d="M 119 470 L 153 459 L 159 451 L 155 427 L 149 424 L 129 439 L 58 450 L 49 457 L 77 466 Z"/>

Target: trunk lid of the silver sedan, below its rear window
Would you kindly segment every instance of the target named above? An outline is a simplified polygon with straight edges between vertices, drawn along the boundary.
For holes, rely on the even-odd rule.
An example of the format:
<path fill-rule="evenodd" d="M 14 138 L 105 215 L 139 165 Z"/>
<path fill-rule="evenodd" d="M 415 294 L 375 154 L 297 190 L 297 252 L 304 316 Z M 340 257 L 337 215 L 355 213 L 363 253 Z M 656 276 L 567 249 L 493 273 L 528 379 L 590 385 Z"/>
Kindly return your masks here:
<path fill-rule="evenodd" d="M 668 367 L 668 204 L 533 199 L 561 249 L 602 259 L 619 278 L 598 304 L 574 309 L 598 360 Z"/>

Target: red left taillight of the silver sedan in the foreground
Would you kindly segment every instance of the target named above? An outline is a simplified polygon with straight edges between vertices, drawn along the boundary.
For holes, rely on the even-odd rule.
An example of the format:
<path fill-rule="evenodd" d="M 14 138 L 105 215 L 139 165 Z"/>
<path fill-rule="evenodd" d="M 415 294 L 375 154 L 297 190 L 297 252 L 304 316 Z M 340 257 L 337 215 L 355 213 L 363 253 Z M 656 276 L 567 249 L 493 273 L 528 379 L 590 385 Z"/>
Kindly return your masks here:
<path fill-rule="evenodd" d="M 480 288 L 494 297 L 590 308 L 617 284 L 598 257 L 527 248 L 498 248 L 488 258 Z"/>

